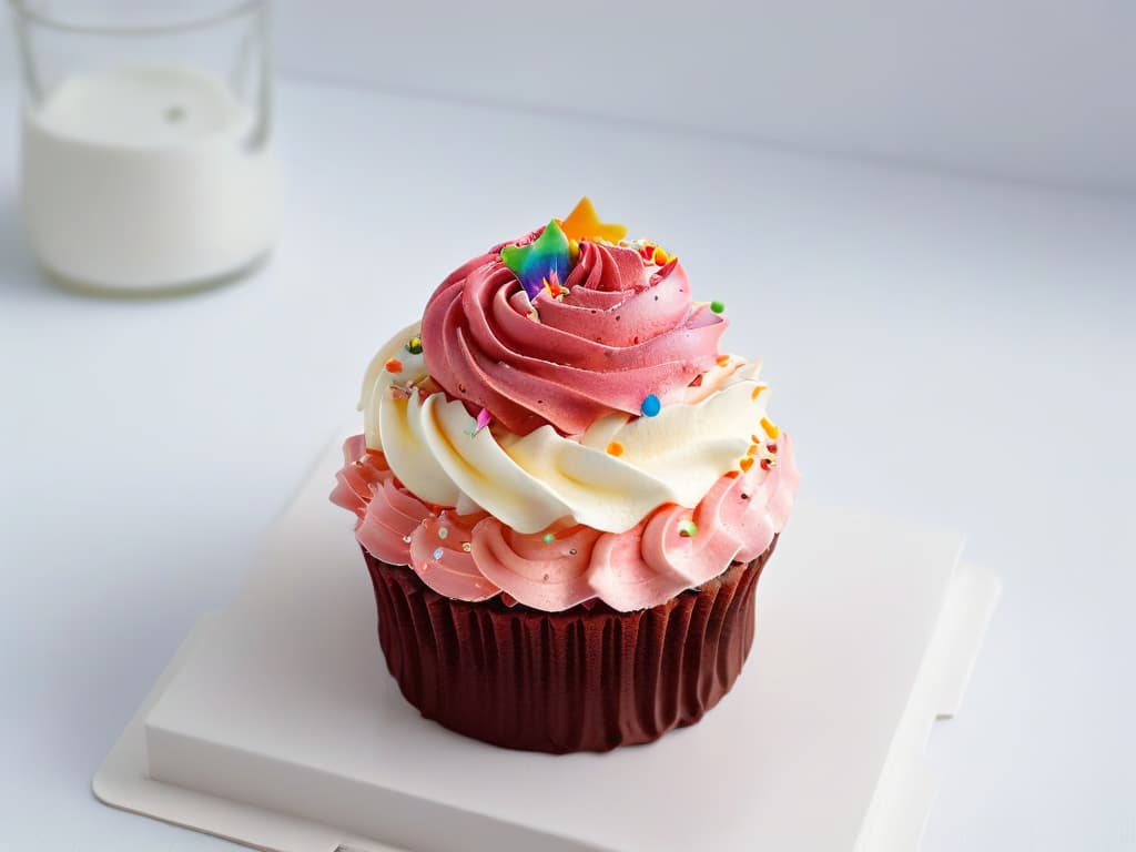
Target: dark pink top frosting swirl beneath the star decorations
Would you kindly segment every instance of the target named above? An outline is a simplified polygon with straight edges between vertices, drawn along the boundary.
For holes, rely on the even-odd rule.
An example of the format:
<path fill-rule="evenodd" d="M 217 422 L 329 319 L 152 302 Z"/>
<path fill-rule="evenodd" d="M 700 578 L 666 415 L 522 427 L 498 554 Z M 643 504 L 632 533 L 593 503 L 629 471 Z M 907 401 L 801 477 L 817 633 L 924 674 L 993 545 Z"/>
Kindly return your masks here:
<path fill-rule="evenodd" d="M 517 241 L 531 242 L 534 232 Z M 584 241 L 568 293 L 529 301 L 500 247 L 453 272 L 423 316 L 426 368 L 470 412 L 486 408 L 524 435 L 545 423 L 567 435 L 601 415 L 640 414 L 643 399 L 679 402 L 710 369 L 725 319 L 691 301 L 677 261 Z M 535 321 L 534 321 L 535 320 Z"/>

